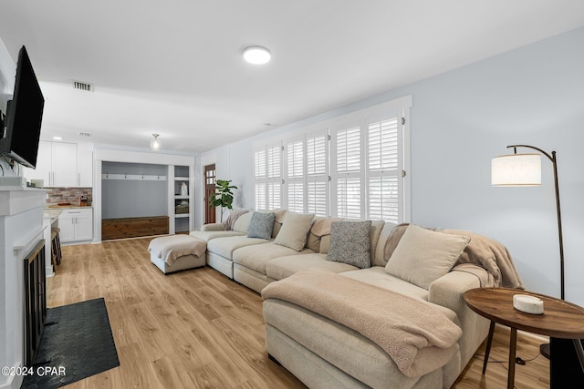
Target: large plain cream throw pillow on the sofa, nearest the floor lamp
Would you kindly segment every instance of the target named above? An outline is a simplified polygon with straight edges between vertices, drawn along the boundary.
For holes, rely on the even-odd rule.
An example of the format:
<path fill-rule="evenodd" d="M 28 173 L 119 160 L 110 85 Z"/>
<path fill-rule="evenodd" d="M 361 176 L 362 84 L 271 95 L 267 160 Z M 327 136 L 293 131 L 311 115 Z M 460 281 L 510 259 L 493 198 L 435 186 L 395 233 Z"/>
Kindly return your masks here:
<path fill-rule="evenodd" d="M 391 254 L 385 270 L 428 289 L 432 282 L 453 268 L 469 241 L 468 236 L 426 230 L 411 224 Z"/>

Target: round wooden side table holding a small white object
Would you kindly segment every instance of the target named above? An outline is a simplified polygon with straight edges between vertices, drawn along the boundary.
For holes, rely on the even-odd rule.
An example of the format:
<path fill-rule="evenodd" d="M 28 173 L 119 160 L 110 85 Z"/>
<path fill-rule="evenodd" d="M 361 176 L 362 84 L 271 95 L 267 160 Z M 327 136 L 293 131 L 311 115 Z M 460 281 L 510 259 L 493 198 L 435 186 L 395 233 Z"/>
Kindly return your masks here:
<path fill-rule="evenodd" d="M 527 294 L 541 299 L 544 302 L 543 314 L 517 311 L 513 306 L 513 295 L 515 294 Z M 491 351 L 495 322 L 511 328 L 509 374 L 507 376 L 507 388 L 510 389 L 513 389 L 515 384 L 517 330 L 562 339 L 584 338 L 584 308 L 564 300 L 517 289 L 477 288 L 464 292 L 464 301 L 474 312 L 491 321 L 486 342 L 483 374 L 485 374 L 486 363 Z M 578 345 L 581 350 L 579 341 Z"/>

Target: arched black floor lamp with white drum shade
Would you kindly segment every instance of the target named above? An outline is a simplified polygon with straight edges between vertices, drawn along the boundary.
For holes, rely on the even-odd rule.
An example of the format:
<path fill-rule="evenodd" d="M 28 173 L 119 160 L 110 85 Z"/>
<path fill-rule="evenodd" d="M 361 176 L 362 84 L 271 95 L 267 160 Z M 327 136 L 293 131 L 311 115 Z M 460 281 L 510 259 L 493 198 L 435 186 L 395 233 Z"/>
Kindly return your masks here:
<path fill-rule="evenodd" d="M 513 148 L 514 153 L 495 157 L 491 160 L 491 185 L 496 187 L 523 187 L 541 185 L 541 156 L 544 155 L 549 159 L 554 169 L 554 186 L 556 189 L 556 210 L 558 212 L 558 238 L 559 238 L 559 271 L 560 271 L 560 295 L 564 300 L 564 241 L 562 238 L 562 217 L 559 208 L 559 188 L 558 188 L 558 164 L 556 160 L 556 151 L 551 155 L 541 148 L 528 145 L 511 145 L 507 148 Z M 517 154 L 517 148 L 531 148 L 540 154 Z M 575 342 L 576 344 L 576 342 Z M 581 344 L 578 342 L 577 349 L 581 350 Z M 539 347 L 541 353 L 549 359 L 549 343 L 542 344 Z M 582 362 L 579 354 L 580 362 Z M 584 364 L 583 364 L 584 365 Z"/>

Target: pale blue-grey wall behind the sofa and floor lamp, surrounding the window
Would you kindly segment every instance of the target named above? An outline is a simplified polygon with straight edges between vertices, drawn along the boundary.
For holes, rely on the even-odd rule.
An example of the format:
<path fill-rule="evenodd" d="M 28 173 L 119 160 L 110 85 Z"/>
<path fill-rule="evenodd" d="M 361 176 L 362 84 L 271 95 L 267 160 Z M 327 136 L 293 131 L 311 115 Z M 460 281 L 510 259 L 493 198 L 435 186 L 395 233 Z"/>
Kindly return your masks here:
<path fill-rule="evenodd" d="M 551 163 L 542 160 L 541 187 L 490 186 L 490 160 L 507 154 L 507 145 L 556 150 L 566 299 L 584 305 L 582 47 L 584 28 L 234 142 L 203 154 L 203 160 L 217 156 L 217 177 L 241 187 L 237 206 L 253 208 L 256 139 L 412 95 L 412 222 L 474 230 L 501 241 L 527 290 L 559 297 Z"/>

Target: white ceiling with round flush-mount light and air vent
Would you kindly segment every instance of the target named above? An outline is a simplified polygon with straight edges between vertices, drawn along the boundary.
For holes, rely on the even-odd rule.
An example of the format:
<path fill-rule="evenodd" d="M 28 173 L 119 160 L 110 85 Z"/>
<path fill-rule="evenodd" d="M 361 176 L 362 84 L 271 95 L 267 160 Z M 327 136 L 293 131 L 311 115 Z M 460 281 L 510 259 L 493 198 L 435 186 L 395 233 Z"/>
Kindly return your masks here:
<path fill-rule="evenodd" d="M 3 0 L 42 138 L 203 152 L 584 26 L 581 0 Z M 260 45 L 272 61 L 241 57 Z M 73 89 L 72 80 L 94 85 Z M 79 132 L 92 134 L 80 138 Z"/>

